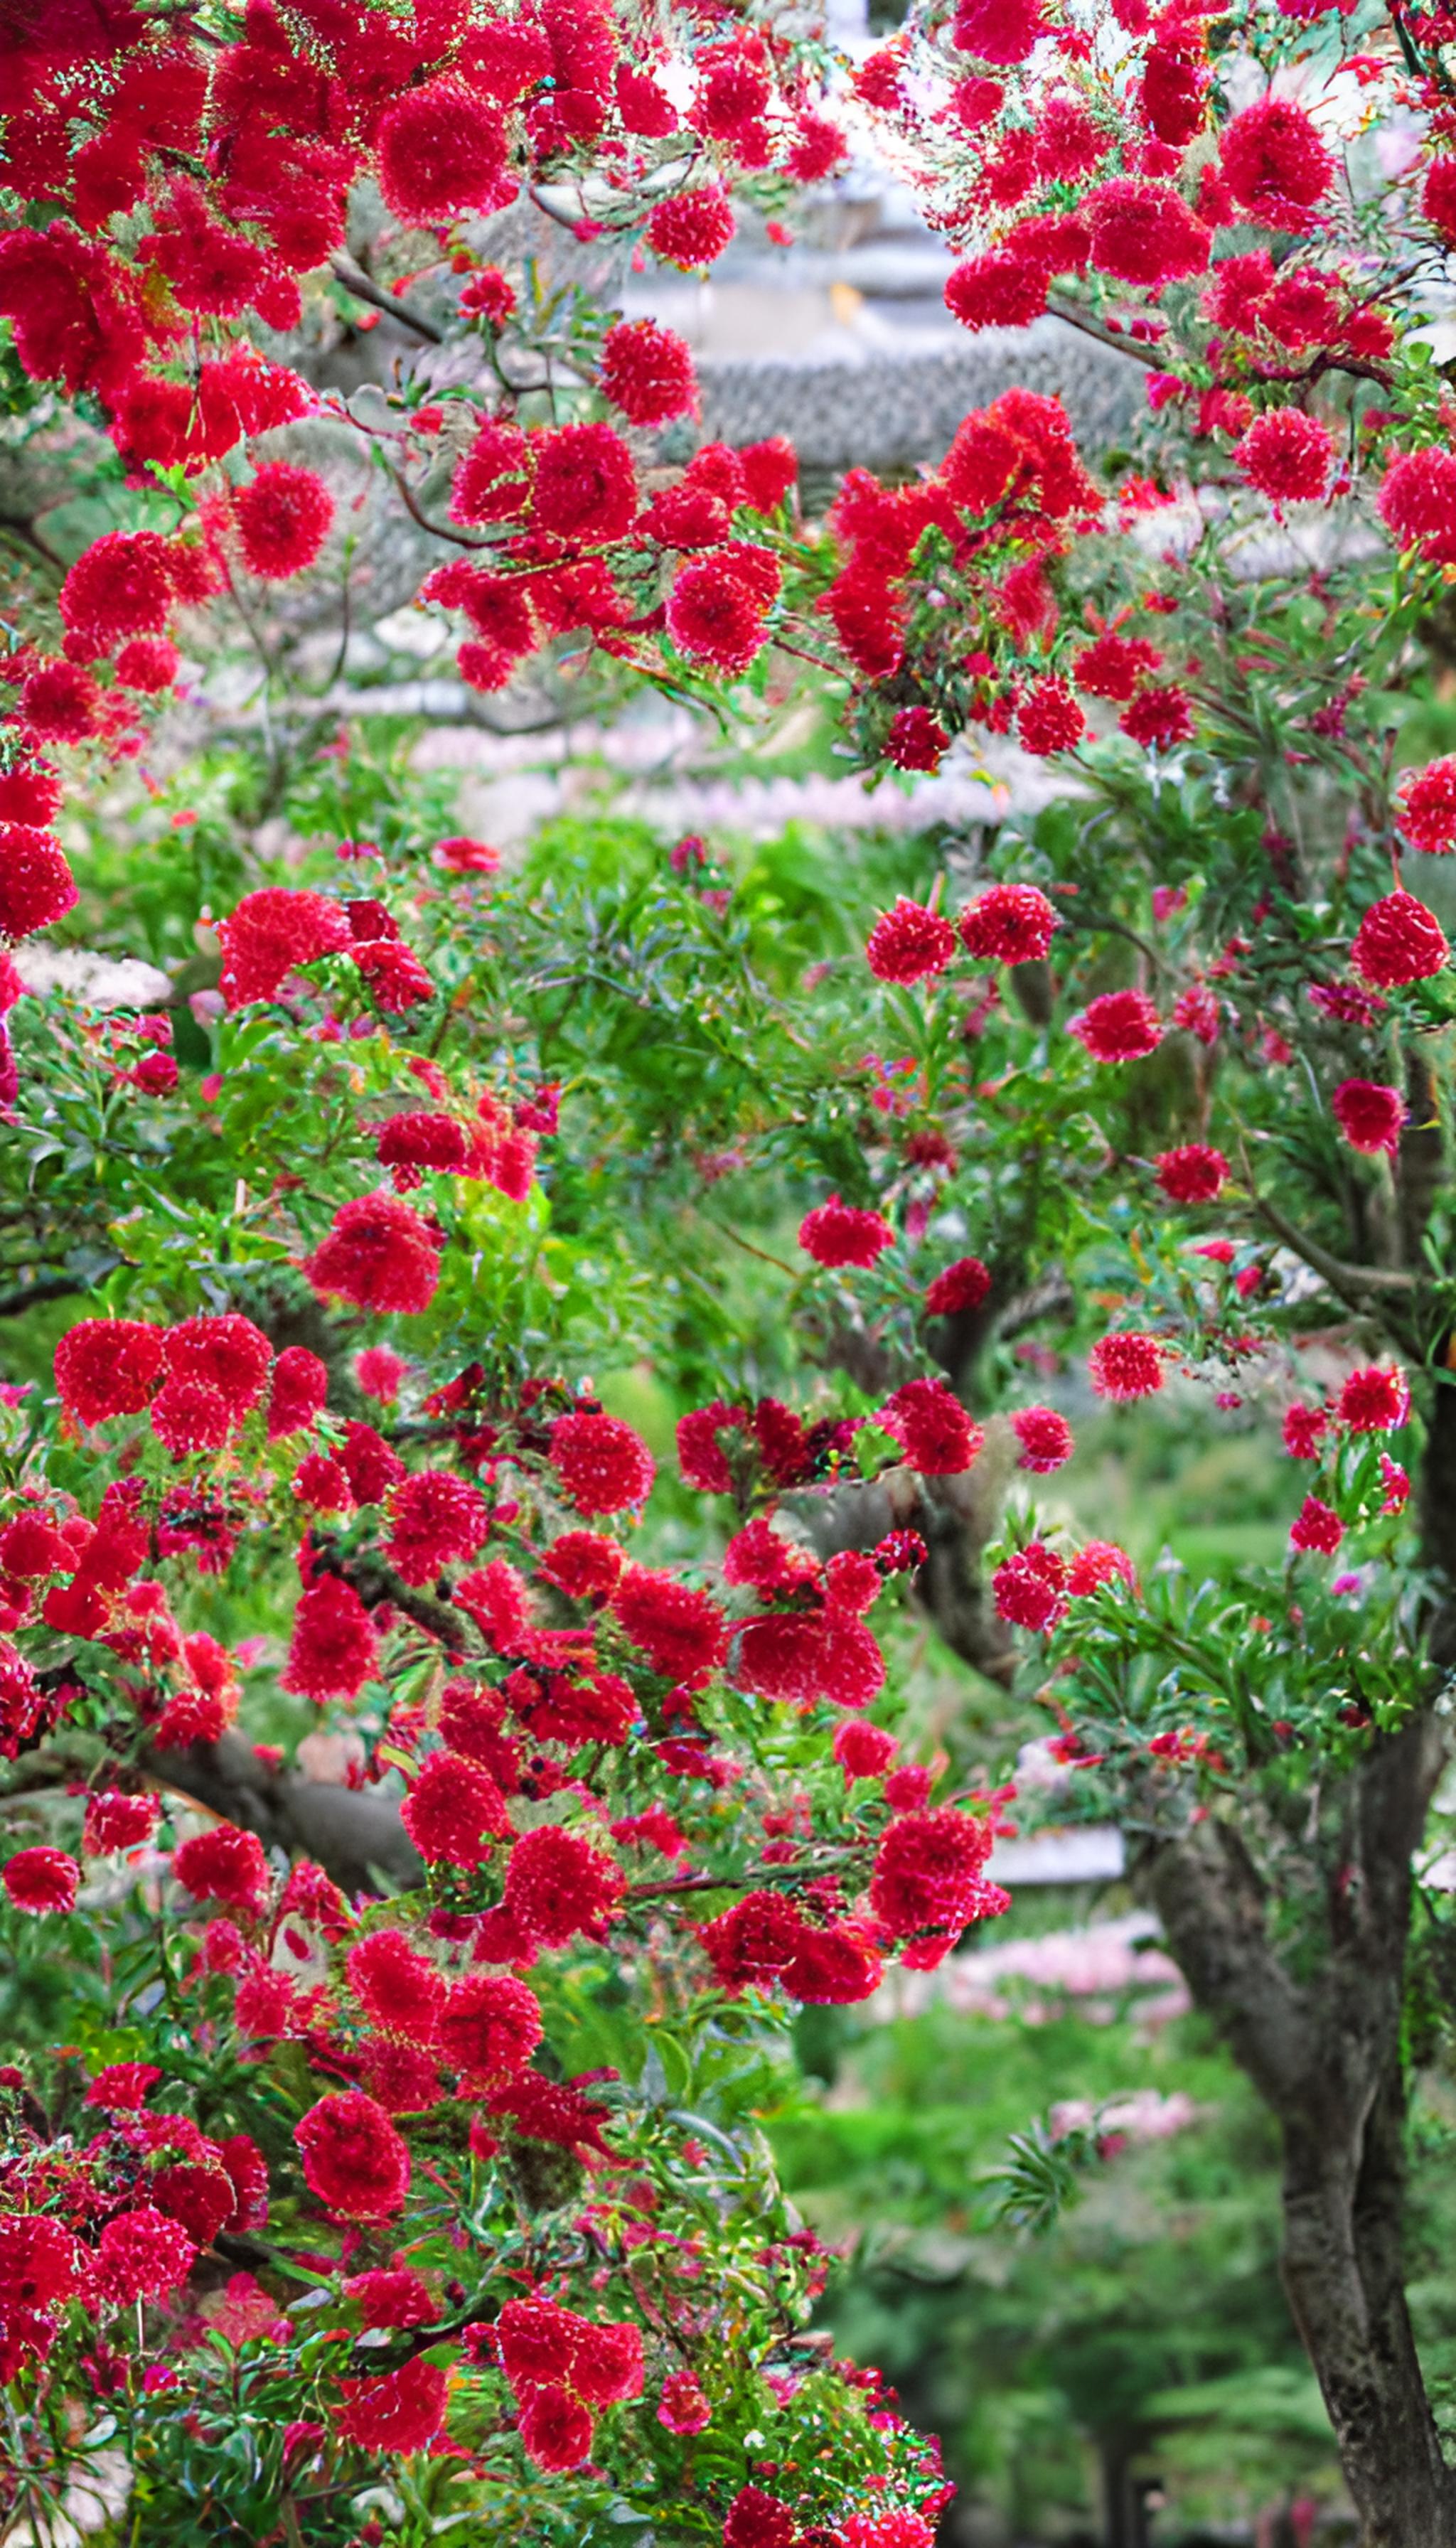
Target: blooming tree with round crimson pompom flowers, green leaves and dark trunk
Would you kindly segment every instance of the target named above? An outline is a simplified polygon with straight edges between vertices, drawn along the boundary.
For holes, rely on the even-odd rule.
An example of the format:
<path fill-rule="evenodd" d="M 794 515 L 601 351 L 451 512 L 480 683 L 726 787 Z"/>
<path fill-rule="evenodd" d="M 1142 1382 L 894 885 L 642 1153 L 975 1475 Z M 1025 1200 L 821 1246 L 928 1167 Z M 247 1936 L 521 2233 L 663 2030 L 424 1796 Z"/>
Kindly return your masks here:
<path fill-rule="evenodd" d="M 1005 1906 L 1010 1791 L 936 1796 L 892 1728 L 918 1600 L 1056 1712 L 1074 1809 L 1127 1814 L 1280 2120 L 1367 2540 L 1456 2538 L 1400 2245 L 1456 1572 L 1456 1004 L 1402 861 L 1456 848 L 1456 759 L 1390 749 L 1456 563 L 1446 38 L 1344 0 L 961 0 L 857 66 L 706 5 L 33 0 L 5 36 L 15 443 L 107 527 L 15 525 L 0 935 L 115 920 L 135 764 L 138 838 L 153 798 L 196 823 L 212 956 L 189 1050 L 0 971 L 10 1307 L 69 1302 L 0 1526 L 0 1880 L 76 1972 L 66 2051 L 0 2087 L 23 2510 L 117 2446 L 158 2535 L 923 2548 L 933 2451 L 806 2337 L 752 2120 L 775 2008 Z M 490 262 L 530 206 L 711 268 L 734 196 L 778 219 L 867 135 L 969 331 L 1056 311 L 1145 369 L 1137 454 L 1010 390 L 813 525 L 780 441 L 663 456 L 668 329 Z M 319 385 L 319 311 L 418 354 Z M 495 882 L 349 741 L 319 780 L 291 650 L 316 609 L 344 665 L 370 576 L 319 436 L 472 691 L 755 719 L 801 680 L 867 769 L 1015 731 L 1066 795 L 808 971 L 696 841 Z M 209 871 L 224 818 L 148 772 L 184 655 L 242 650 L 306 877 L 240 803 Z M 727 1223 L 683 1310 L 683 1180 L 724 1175 L 798 1228 L 783 1391 Z M 683 1384 L 678 1539 L 586 1378 L 625 1335 Z M 1076 1544 L 1053 1340 L 1112 1406 L 1283 1389 L 1288 1567 Z"/>

